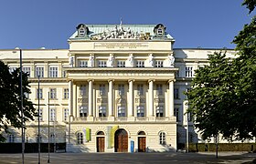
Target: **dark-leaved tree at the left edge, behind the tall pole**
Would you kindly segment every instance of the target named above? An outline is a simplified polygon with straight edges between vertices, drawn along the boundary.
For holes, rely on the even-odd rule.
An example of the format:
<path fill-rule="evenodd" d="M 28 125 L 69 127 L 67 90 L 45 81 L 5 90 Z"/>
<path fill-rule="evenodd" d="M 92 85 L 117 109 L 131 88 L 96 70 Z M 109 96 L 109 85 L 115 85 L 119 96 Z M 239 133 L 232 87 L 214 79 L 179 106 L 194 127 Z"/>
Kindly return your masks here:
<path fill-rule="evenodd" d="M 22 128 L 21 98 L 20 98 L 20 69 L 10 73 L 9 67 L 0 61 L 0 132 L 8 133 L 8 126 Z M 29 94 L 29 82 L 26 73 L 22 74 L 23 91 Z M 36 116 L 35 108 L 31 101 L 23 96 L 24 121 L 33 120 Z M 5 141 L 0 133 L 0 142 Z"/>

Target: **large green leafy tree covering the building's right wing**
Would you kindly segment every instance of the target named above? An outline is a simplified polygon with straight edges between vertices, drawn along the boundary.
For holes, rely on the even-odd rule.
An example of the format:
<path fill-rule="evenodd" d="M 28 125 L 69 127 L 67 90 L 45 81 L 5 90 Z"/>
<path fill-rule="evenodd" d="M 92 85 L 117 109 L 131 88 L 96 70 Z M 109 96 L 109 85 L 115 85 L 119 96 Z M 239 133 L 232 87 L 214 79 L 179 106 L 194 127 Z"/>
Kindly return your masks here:
<path fill-rule="evenodd" d="M 249 13 L 255 0 L 245 0 Z M 203 138 L 218 133 L 223 138 L 243 140 L 256 136 L 256 17 L 233 40 L 238 57 L 208 57 L 209 66 L 196 71 L 192 89 L 186 94 Z"/>

